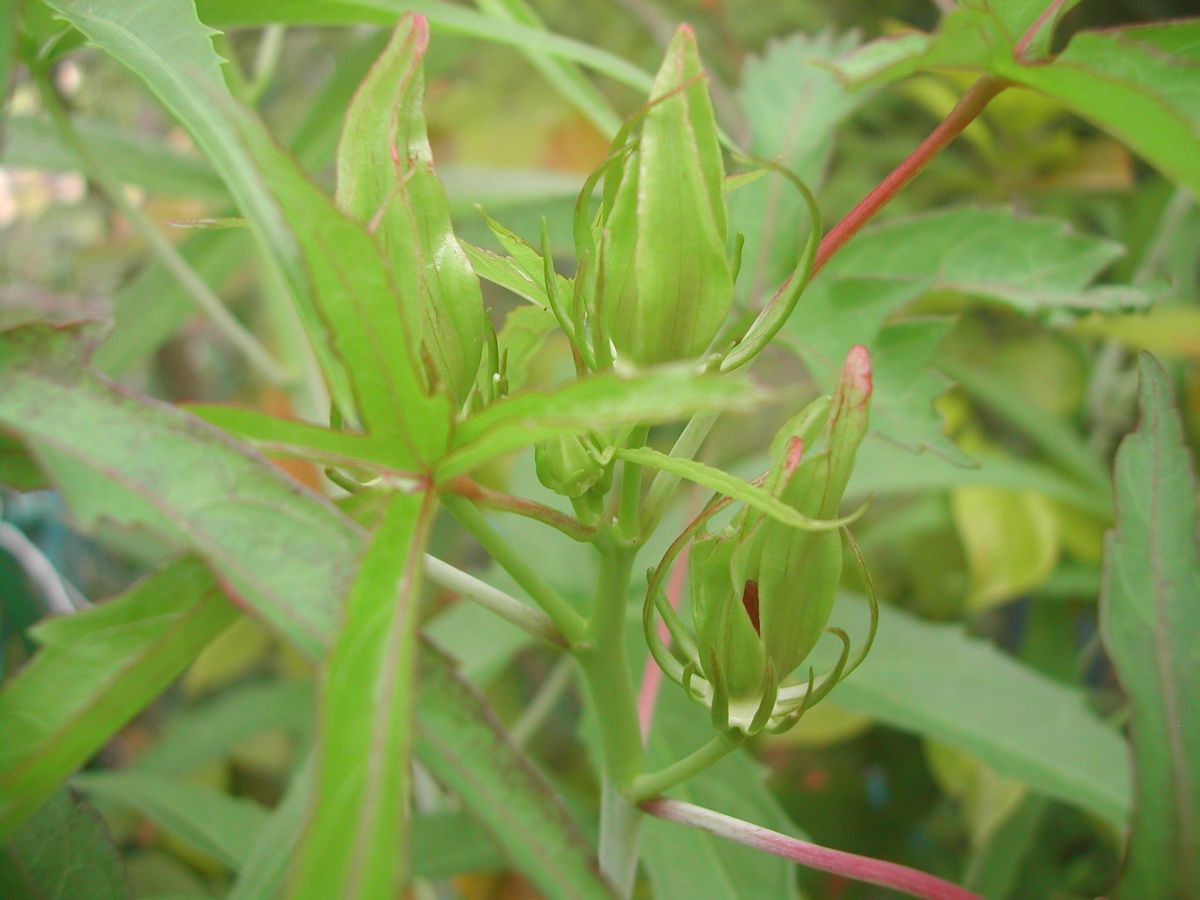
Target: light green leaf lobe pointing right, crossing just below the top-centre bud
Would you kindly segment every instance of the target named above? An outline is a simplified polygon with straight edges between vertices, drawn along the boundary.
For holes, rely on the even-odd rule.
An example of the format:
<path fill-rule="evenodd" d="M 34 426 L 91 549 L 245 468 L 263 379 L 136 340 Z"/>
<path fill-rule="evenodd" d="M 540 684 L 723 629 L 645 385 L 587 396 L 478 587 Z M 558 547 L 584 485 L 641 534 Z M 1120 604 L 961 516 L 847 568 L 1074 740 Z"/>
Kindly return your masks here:
<path fill-rule="evenodd" d="M 685 365 L 632 378 L 596 374 L 552 391 L 518 394 L 458 426 L 454 449 L 438 466 L 438 479 L 461 475 L 496 456 L 564 432 L 670 421 L 702 410 L 744 409 L 760 398 L 761 394 L 744 378 L 701 376 Z"/>

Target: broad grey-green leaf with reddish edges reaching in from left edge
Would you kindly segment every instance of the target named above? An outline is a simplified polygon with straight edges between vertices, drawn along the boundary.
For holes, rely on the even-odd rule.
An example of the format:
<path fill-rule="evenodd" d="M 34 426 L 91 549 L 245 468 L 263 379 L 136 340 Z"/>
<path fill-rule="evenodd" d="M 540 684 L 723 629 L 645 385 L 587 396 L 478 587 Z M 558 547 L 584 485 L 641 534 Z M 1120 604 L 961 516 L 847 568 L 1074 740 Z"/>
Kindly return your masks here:
<path fill-rule="evenodd" d="M 120 496 L 107 515 L 194 547 L 258 614 L 318 655 L 359 529 L 216 428 L 89 373 L 83 343 L 46 326 L 0 334 L 0 425 L 106 481 Z"/>

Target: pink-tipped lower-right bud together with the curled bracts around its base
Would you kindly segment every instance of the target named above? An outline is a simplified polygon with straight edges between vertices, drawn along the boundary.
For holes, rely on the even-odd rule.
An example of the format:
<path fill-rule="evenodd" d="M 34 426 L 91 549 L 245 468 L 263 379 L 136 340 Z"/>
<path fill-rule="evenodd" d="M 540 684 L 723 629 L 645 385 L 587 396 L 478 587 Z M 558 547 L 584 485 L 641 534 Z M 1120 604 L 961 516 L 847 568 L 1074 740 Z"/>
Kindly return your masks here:
<path fill-rule="evenodd" d="M 804 521 L 836 516 L 866 433 L 870 395 L 870 359 L 856 347 L 833 397 L 791 418 L 772 443 L 772 469 L 757 480 L 761 490 Z M 794 724 L 863 661 L 878 604 L 868 575 L 870 629 L 853 650 L 850 636 L 829 626 L 845 563 L 842 534 L 790 524 L 767 515 L 761 500 L 748 500 L 721 533 L 707 533 L 706 523 L 732 503 L 710 502 L 650 571 L 643 626 L 662 671 L 709 707 L 714 727 L 755 734 Z M 844 535 L 865 571 L 858 545 L 848 530 Z M 689 546 L 690 634 L 660 590 L 666 570 Z M 658 636 L 655 611 L 672 636 L 670 648 Z M 806 682 L 788 680 L 824 634 L 841 642 L 834 666 L 820 677 L 809 666 Z"/>

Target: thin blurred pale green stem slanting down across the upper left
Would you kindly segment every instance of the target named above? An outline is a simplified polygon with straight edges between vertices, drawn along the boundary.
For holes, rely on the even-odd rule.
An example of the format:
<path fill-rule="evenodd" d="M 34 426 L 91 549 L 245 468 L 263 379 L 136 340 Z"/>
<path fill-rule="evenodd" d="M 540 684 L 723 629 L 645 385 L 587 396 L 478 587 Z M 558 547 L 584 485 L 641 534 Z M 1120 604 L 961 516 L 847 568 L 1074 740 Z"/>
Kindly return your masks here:
<path fill-rule="evenodd" d="M 175 245 L 167 240 L 162 232 L 158 230 L 157 224 L 142 211 L 140 206 L 130 200 L 125 193 L 125 185 L 108 167 L 108 163 L 91 151 L 88 142 L 80 137 L 74 125 L 72 125 L 71 116 L 62 106 L 62 101 L 59 100 L 58 91 L 50 83 L 46 70 L 32 67 L 30 74 L 42 96 L 46 112 L 49 113 L 64 142 L 78 156 L 88 178 L 100 186 L 112 204 L 138 230 L 146 246 L 158 258 L 158 262 L 163 264 L 167 271 L 175 276 L 175 280 L 191 295 L 200 311 L 209 317 L 212 325 L 246 356 L 246 360 L 259 371 L 263 378 L 271 384 L 289 383 L 292 376 L 275 361 L 266 348 L 224 307 L 221 298 L 188 265 L 187 260 L 175 248 Z"/>

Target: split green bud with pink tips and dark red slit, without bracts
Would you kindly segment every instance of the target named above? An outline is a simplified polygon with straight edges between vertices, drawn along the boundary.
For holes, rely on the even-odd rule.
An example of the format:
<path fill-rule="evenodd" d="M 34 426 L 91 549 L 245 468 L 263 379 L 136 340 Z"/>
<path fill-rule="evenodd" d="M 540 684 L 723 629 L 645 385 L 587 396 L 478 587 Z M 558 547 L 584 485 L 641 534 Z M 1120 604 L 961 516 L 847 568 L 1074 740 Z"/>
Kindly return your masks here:
<path fill-rule="evenodd" d="M 870 360 L 854 347 L 832 404 L 818 401 L 773 442 L 767 487 L 810 518 L 836 517 L 866 434 L 870 395 Z M 806 444 L 822 443 L 809 454 Z M 714 709 L 728 710 L 728 726 L 748 728 L 760 702 L 774 702 L 782 679 L 826 631 L 841 581 L 842 539 L 836 530 L 745 512 L 726 533 L 697 538 L 691 553 L 698 668 Z"/>

